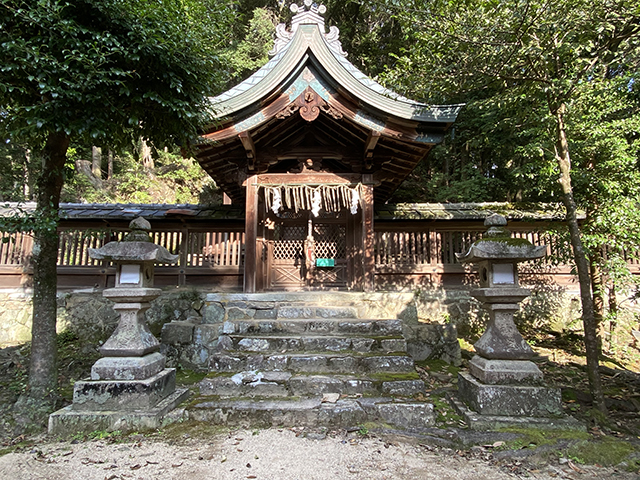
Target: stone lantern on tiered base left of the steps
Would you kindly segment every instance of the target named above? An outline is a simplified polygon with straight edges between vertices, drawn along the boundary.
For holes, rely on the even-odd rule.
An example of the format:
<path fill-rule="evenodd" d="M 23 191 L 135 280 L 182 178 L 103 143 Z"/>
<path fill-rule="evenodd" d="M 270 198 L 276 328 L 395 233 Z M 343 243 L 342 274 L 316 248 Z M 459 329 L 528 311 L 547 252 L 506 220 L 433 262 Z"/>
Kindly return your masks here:
<path fill-rule="evenodd" d="M 121 242 L 89 249 L 91 258 L 116 266 L 115 287 L 103 296 L 115 303 L 120 321 L 100 348 L 103 358 L 91 368 L 91 378 L 76 382 L 73 404 L 49 417 L 50 433 L 158 427 L 188 395 L 187 389 L 176 390 L 175 369 L 165 368 L 160 342 L 144 317 L 162 292 L 153 288 L 154 264 L 175 263 L 178 255 L 151 242 L 151 225 L 142 217 L 129 228 Z"/>

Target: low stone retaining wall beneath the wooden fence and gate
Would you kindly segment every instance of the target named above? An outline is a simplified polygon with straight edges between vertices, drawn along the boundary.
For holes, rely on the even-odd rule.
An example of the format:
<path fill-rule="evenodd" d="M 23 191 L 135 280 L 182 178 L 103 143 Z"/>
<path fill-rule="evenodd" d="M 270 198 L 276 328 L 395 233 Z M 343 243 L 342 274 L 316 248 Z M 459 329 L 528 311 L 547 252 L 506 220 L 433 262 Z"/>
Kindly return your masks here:
<path fill-rule="evenodd" d="M 415 360 L 440 358 L 460 361 L 458 333 L 473 336 L 484 326 L 478 303 L 466 289 L 416 292 L 305 292 L 224 294 L 195 289 L 165 290 L 147 311 L 151 331 L 162 338 L 172 366 L 207 368 L 225 321 L 274 319 L 278 315 L 304 318 L 323 315 L 323 306 L 352 309 L 359 318 L 400 318 L 408 351 Z M 519 320 L 535 328 L 536 322 L 558 321 L 562 329 L 577 318 L 579 303 L 559 290 L 540 290 L 525 302 Z M 58 331 L 71 330 L 80 342 L 98 345 L 113 332 L 118 315 L 112 303 L 94 289 L 58 296 Z M 171 324 L 163 332 L 165 324 Z M 0 292 L 0 346 L 30 339 L 31 294 Z"/>

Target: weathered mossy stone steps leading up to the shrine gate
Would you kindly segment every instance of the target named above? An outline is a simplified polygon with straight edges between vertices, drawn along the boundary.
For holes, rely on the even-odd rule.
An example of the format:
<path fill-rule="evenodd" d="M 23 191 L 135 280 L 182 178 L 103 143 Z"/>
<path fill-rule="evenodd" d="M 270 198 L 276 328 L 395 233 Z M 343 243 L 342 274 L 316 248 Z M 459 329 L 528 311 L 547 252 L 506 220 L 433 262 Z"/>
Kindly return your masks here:
<path fill-rule="evenodd" d="M 274 318 L 228 319 L 189 417 L 242 426 L 433 424 L 402 322 L 352 307 L 282 306 Z"/>

